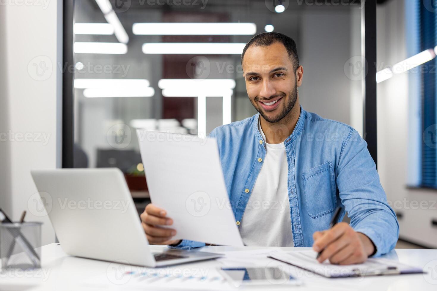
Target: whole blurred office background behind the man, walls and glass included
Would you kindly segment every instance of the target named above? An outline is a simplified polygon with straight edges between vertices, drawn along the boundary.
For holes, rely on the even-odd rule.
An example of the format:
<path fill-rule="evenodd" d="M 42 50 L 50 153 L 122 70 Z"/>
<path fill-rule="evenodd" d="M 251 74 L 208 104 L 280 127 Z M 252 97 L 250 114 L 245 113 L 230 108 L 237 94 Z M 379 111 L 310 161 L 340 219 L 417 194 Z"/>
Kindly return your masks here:
<path fill-rule="evenodd" d="M 0 42 L 6 64 L 0 68 L 0 132 L 50 134 L 47 143 L 0 142 L 2 208 L 19 216 L 36 192 L 29 170 L 62 165 L 61 82 L 69 70 L 74 167 L 120 168 L 141 212 L 149 199 L 135 129 L 204 136 L 257 113 L 240 58 L 246 42 L 264 31 L 296 41 L 305 110 L 350 124 L 365 137 L 360 1 L 279 2 L 75 0 L 68 32 L 75 38 L 73 66 L 62 62 L 62 37 L 70 36 L 62 31 L 62 1 L 0 6 L 0 38 L 6 39 Z M 386 0 L 377 6 L 378 172 L 401 239 L 414 243 L 401 247 L 437 247 L 431 72 L 437 18 L 423 3 Z M 415 68 L 427 70 L 402 65 L 427 49 L 420 55 L 425 65 Z M 51 242 L 47 217 L 34 218 L 45 222 L 44 240 Z"/>

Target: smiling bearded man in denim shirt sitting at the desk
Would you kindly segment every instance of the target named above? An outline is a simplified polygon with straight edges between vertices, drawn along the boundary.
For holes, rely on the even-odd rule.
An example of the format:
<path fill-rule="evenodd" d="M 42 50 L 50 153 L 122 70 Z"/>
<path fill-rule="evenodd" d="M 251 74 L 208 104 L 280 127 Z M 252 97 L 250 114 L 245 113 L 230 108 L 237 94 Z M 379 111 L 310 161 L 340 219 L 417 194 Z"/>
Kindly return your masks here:
<path fill-rule="evenodd" d="M 295 42 L 280 33 L 253 37 L 241 57 L 246 90 L 259 114 L 217 127 L 225 182 L 243 242 L 248 246 L 312 246 L 319 261 L 356 264 L 393 249 L 395 213 L 366 142 L 347 124 L 299 104 L 303 67 Z M 314 80 L 312 80 L 314 82 Z M 323 96 L 320 96 L 323 98 Z M 341 106 L 341 104 L 338 104 Z M 329 223 L 337 206 L 350 224 Z M 171 240 L 163 209 L 142 214 L 150 243 L 190 249 L 205 243 Z"/>

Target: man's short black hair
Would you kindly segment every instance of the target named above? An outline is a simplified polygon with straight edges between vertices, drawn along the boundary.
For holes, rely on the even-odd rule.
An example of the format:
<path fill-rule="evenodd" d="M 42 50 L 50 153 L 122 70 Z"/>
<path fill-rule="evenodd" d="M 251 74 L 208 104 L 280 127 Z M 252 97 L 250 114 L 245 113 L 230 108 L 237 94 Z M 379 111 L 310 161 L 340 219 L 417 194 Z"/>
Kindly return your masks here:
<path fill-rule="evenodd" d="M 244 47 L 243 53 L 241 54 L 241 63 L 243 64 L 244 54 L 246 50 L 251 46 L 268 46 L 273 44 L 274 42 L 279 42 L 287 49 L 288 56 L 293 62 L 294 70 L 296 71 L 299 67 L 299 57 L 298 51 L 296 49 L 295 41 L 286 36 L 285 34 L 281 34 L 279 32 L 264 32 L 258 35 L 255 35 Z"/>

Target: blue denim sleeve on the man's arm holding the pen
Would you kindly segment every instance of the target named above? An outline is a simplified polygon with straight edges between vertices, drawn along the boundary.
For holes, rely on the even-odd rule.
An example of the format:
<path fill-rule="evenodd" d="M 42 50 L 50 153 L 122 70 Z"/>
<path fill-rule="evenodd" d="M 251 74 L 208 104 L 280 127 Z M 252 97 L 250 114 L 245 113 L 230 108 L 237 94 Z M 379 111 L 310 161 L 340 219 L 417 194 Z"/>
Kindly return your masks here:
<path fill-rule="evenodd" d="M 379 181 L 367 143 L 354 129 L 343 143 L 337 167 L 337 188 L 350 217 L 350 226 L 374 243 L 374 256 L 391 251 L 399 237 L 399 223 Z"/>

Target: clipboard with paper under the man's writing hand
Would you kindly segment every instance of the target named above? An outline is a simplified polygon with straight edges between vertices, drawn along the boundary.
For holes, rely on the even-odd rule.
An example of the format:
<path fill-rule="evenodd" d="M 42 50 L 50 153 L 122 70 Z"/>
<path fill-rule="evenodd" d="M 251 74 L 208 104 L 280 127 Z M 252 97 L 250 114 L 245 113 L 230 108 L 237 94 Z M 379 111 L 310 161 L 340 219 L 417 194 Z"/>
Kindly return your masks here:
<path fill-rule="evenodd" d="M 316 256 L 317 253 L 312 250 L 297 252 L 274 251 L 270 253 L 270 257 L 275 260 L 329 278 L 423 273 L 421 268 L 383 258 L 369 258 L 363 264 L 334 265 L 330 264 L 328 260 L 319 263 L 316 260 Z"/>

